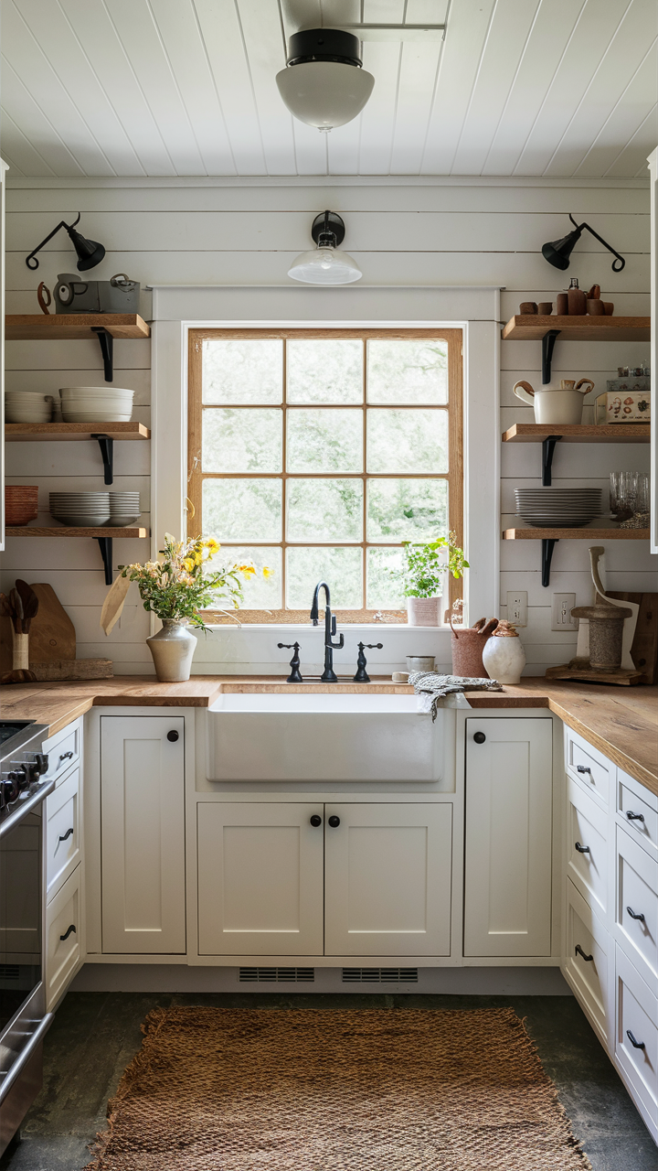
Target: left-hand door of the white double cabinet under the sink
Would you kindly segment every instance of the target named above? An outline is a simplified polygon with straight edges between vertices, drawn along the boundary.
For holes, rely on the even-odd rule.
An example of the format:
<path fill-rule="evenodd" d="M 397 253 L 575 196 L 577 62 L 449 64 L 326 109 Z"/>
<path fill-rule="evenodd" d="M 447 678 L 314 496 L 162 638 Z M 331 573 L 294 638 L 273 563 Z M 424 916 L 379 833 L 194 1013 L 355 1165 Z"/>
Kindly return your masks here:
<path fill-rule="evenodd" d="M 323 820 L 318 801 L 199 803 L 200 956 L 322 954 Z"/>

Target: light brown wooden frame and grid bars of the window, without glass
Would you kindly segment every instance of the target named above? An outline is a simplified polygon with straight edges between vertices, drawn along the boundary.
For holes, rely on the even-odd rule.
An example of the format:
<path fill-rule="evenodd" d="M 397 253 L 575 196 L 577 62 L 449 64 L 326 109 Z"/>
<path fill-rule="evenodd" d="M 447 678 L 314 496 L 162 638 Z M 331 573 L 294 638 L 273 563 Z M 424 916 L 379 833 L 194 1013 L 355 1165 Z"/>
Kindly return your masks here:
<path fill-rule="evenodd" d="M 191 328 L 189 330 L 189 368 L 187 368 L 187 535 L 199 536 L 201 533 L 201 492 L 204 479 L 231 479 L 240 478 L 239 473 L 203 473 L 201 472 L 201 434 L 203 434 L 203 344 L 205 341 L 211 338 L 218 340 L 255 340 L 255 338 L 276 338 L 276 340 L 311 340 L 311 338 L 357 338 L 363 341 L 364 351 L 365 343 L 371 340 L 376 341 L 409 341 L 418 338 L 427 338 L 431 341 L 446 341 L 448 348 L 448 400 L 444 404 L 409 404 L 409 403 L 382 403 L 382 404 L 368 404 L 365 398 L 365 358 L 363 368 L 364 377 L 364 395 L 362 402 L 362 410 L 364 413 L 365 424 L 365 411 L 368 405 L 377 405 L 383 409 L 412 409 L 417 406 L 421 409 L 429 406 L 431 410 L 445 410 L 448 416 L 448 471 L 447 472 L 431 472 L 431 473 L 409 473 L 409 478 L 412 479 L 443 479 L 447 480 L 448 485 L 448 528 L 457 536 L 457 543 L 464 546 L 464 333 L 461 329 L 286 329 L 286 328 L 272 328 L 272 329 L 213 329 L 213 328 Z M 283 347 L 283 398 L 281 403 L 281 411 L 283 412 L 283 471 L 276 473 L 267 473 L 268 478 L 286 480 L 292 477 L 290 473 L 286 472 L 286 426 L 285 426 L 285 415 L 286 415 L 286 347 Z M 220 404 L 214 404 L 214 406 Z M 234 404 L 237 408 L 239 404 Z M 260 406 L 262 404 L 253 404 L 253 408 Z M 266 404 L 268 405 L 268 404 Z M 272 404 L 274 405 L 274 404 Z M 303 406 L 304 404 L 295 403 L 295 406 Z M 309 406 L 320 406 L 323 409 L 324 404 L 308 404 Z M 341 406 L 344 404 L 334 403 L 327 404 L 327 406 Z M 355 406 L 357 404 L 354 404 Z M 208 404 L 210 406 L 210 404 Z M 249 404 L 246 404 L 246 409 L 249 409 Z M 364 444 L 365 444 L 365 425 L 364 425 Z M 249 473 L 251 475 L 255 473 Z M 261 473 L 266 474 L 266 473 Z M 304 473 L 307 478 L 311 478 L 314 474 L 325 478 L 327 472 L 323 473 Z M 389 478 L 399 478 L 400 473 L 390 473 Z M 365 509 L 365 482 L 370 475 L 364 470 L 362 473 L 350 473 L 352 479 L 362 479 L 364 484 L 364 509 Z M 377 474 L 378 479 L 385 479 L 385 474 Z M 221 534 L 217 534 L 218 539 L 221 541 Z M 364 573 L 365 573 L 365 550 L 369 546 L 376 545 L 377 542 L 365 540 L 365 525 L 364 525 L 364 539 L 362 541 L 336 541 L 336 542 L 287 542 L 281 541 L 231 541 L 222 542 L 222 547 L 231 548 L 232 546 L 245 546 L 245 545 L 262 545 L 267 547 L 279 547 L 282 550 L 282 564 L 286 560 L 286 547 L 288 545 L 303 545 L 304 547 L 313 546 L 314 543 L 327 546 L 327 545 L 349 545 L 350 547 L 362 548 L 364 554 Z M 402 542 L 382 542 L 391 548 L 399 548 Z M 285 568 L 283 568 L 285 574 Z M 450 605 L 453 604 L 458 598 L 462 597 L 462 580 L 455 581 L 454 577 L 446 574 L 446 581 L 448 583 L 448 596 L 447 602 Z M 444 593 L 445 597 L 445 593 Z M 282 598 L 286 600 L 285 594 L 285 581 L 282 583 Z M 281 624 L 300 624 L 308 623 L 308 614 L 310 610 L 311 598 L 309 598 L 308 608 L 304 610 L 240 610 L 240 622 L 246 624 L 267 624 L 267 625 L 281 625 Z M 447 605 L 446 605 L 447 609 Z M 358 609 L 358 610 L 342 610 L 337 609 L 336 618 L 343 624 L 370 624 L 375 622 L 375 616 L 379 614 L 378 610 L 372 609 Z M 388 622 L 406 622 L 405 610 L 385 610 L 385 621 Z M 204 611 L 204 619 L 208 624 L 228 624 L 233 619 L 217 610 Z"/>

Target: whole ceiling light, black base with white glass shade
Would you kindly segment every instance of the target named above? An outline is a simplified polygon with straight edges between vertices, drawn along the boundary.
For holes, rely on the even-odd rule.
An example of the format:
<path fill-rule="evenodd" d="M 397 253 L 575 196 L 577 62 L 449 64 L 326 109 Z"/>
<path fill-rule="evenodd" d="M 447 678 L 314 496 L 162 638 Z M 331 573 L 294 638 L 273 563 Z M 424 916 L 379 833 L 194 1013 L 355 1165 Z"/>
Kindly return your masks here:
<path fill-rule="evenodd" d="M 363 110 L 375 85 L 362 69 L 357 36 L 336 28 L 310 28 L 290 37 L 288 66 L 276 84 L 293 117 L 329 131 Z"/>

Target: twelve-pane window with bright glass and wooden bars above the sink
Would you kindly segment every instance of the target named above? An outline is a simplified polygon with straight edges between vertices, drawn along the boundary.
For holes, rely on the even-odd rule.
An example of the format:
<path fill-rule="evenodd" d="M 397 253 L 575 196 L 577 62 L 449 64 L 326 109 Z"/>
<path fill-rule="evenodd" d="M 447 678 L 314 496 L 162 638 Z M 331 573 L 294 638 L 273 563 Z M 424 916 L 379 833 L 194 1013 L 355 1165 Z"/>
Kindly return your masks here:
<path fill-rule="evenodd" d="M 461 331 L 191 330 L 189 457 L 190 532 L 273 570 L 244 619 L 321 578 L 343 622 L 400 612 L 402 542 L 461 543 Z"/>

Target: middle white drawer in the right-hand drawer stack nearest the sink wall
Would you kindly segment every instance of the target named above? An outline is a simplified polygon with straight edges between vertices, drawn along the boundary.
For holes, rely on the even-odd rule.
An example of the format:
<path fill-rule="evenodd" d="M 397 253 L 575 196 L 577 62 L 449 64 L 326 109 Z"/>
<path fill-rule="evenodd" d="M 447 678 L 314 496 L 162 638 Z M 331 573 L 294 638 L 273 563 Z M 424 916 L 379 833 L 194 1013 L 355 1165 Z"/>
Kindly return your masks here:
<path fill-rule="evenodd" d="M 569 781 L 567 833 L 567 872 L 594 910 L 605 917 L 608 817 L 574 781 Z"/>

